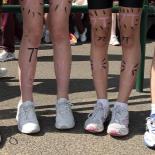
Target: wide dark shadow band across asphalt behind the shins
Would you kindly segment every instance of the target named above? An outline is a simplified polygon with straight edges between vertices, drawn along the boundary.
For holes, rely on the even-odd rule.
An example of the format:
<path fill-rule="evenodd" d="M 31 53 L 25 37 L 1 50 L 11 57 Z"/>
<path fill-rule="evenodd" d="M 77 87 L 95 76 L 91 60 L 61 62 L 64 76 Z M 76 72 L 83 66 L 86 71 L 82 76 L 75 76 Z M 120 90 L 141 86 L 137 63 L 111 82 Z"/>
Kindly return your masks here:
<path fill-rule="evenodd" d="M 17 85 L 9 85 L 8 83 L 17 83 Z M 55 79 L 35 79 L 34 92 L 38 94 L 56 95 L 56 80 Z M 108 92 L 118 92 L 119 75 L 110 74 L 108 76 Z M 148 88 L 149 79 L 144 80 L 144 88 Z M 0 102 L 19 97 L 18 80 L 9 77 L 3 78 L 0 81 Z M 94 91 L 92 79 L 71 79 L 70 80 L 70 94 L 76 92 Z M 149 92 L 148 92 L 149 93 Z"/>

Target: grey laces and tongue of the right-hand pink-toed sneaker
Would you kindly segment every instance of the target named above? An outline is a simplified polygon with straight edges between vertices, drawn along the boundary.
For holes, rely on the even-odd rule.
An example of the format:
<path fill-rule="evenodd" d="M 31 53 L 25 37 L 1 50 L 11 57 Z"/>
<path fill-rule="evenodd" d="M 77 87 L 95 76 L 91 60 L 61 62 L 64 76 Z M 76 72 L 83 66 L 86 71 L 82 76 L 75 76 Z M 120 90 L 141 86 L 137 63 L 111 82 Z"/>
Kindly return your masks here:
<path fill-rule="evenodd" d="M 119 106 L 113 107 L 112 108 L 112 119 L 111 122 L 117 122 L 122 124 L 123 121 L 123 113 L 125 110 L 123 108 L 120 108 Z"/>

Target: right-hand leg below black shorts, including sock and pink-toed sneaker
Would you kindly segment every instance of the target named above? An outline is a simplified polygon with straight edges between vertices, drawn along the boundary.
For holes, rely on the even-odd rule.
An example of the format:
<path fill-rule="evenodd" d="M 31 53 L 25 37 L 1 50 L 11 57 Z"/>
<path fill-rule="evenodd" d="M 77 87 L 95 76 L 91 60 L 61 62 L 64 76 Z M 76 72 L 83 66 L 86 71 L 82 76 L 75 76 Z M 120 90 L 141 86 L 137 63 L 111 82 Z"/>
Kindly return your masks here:
<path fill-rule="evenodd" d="M 125 136 L 129 133 L 129 112 L 126 103 L 140 62 L 140 17 L 141 9 L 121 7 L 120 30 L 123 56 L 118 99 L 107 129 L 107 133 L 111 136 Z"/>

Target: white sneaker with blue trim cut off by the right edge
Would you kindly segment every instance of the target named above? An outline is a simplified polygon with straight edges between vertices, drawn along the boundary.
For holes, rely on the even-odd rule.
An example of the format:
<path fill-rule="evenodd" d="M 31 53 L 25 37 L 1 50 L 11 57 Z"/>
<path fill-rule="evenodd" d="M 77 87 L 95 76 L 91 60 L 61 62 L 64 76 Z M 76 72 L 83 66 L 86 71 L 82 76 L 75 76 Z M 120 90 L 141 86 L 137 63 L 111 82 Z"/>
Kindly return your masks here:
<path fill-rule="evenodd" d="M 155 148 L 155 114 L 147 118 L 144 143 L 150 148 Z"/>

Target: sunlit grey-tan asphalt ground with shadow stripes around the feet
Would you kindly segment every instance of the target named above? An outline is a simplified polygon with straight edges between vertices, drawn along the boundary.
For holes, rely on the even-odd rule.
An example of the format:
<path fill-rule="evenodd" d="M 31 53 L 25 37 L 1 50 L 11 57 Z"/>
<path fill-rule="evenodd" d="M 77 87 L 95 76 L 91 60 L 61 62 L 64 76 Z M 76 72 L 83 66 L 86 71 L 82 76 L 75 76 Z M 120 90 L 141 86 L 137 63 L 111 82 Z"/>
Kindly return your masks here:
<path fill-rule="evenodd" d="M 41 132 L 21 134 L 15 120 L 19 101 L 17 60 L 0 63 L 8 75 L 0 79 L 0 155 L 154 155 L 155 150 L 144 146 L 145 119 L 150 110 L 150 66 L 154 41 L 146 45 L 144 91 L 135 88 L 129 98 L 130 133 L 123 138 L 112 138 L 105 131 L 90 134 L 84 131 L 84 122 L 96 101 L 89 62 L 90 44 L 72 46 L 70 100 L 73 103 L 76 126 L 72 130 L 55 129 L 56 80 L 53 70 L 53 51 L 42 45 L 34 82 L 34 99 Z M 18 46 L 16 47 L 16 57 Z M 109 47 L 108 98 L 117 98 L 121 62 L 121 47 Z"/>

